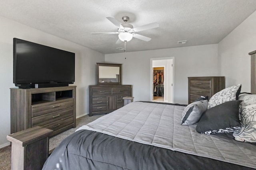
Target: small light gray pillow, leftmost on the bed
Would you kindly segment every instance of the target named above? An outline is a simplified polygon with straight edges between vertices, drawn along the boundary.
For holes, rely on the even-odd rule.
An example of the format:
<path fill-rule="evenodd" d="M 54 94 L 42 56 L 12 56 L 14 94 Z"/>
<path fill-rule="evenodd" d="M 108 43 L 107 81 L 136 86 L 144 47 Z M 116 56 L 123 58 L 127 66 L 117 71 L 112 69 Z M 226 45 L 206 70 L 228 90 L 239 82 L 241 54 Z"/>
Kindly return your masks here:
<path fill-rule="evenodd" d="M 181 124 L 192 125 L 198 122 L 204 111 L 207 110 L 207 107 L 207 100 L 200 100 L 189 104 L 185 107 L 184 111 L 182 112 Z"/>

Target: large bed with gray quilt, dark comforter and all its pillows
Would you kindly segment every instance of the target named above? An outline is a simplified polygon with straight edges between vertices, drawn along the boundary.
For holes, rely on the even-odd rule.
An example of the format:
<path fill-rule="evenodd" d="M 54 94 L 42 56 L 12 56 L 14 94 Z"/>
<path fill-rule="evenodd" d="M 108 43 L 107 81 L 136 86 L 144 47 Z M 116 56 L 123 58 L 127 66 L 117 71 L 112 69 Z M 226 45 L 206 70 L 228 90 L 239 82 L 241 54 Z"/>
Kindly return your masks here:
<path fill-rule="evenodd" d="M 248 123 L 256 95 L 240 90 L 238 84 L 188 106 L 132 102 L 64 139 L 43 169 L 256 169 L 256 114 Z"/>

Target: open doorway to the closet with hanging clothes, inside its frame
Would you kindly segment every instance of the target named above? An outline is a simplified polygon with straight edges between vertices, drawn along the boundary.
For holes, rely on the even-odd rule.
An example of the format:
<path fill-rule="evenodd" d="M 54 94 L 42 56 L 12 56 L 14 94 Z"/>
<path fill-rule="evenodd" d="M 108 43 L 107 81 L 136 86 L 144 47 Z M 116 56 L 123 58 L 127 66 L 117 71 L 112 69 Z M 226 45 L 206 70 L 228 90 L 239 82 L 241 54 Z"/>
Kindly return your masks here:
<path fill-rule="evenodd" d="M 174 103 L 174 57 L 150 59 L 150 101 Z"/>

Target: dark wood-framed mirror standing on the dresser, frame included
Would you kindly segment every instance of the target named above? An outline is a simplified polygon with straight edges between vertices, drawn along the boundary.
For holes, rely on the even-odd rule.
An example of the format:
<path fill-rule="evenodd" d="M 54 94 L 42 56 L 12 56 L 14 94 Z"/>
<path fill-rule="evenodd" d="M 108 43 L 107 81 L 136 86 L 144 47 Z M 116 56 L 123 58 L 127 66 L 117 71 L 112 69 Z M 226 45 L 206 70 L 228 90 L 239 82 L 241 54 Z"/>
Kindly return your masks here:
<path fill-rule="evenodd" d="M 121 65 L 97 63 L 97 85 L 121 84 Z"/>

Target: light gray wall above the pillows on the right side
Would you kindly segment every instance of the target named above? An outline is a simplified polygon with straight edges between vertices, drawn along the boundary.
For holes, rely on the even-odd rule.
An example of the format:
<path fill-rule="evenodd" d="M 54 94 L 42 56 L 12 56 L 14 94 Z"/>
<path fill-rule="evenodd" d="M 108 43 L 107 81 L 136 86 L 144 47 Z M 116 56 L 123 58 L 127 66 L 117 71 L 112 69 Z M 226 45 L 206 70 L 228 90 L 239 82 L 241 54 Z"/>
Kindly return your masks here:
<path fill-rule="evenodd" d="M 252 13 L 218 44 L 219 70 L 226 87 L 242 84 L 241 92 L 250 92 L 248 53 L 256 50 L 256 12 Z"/>

